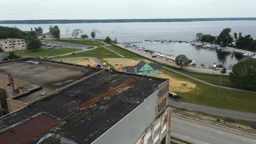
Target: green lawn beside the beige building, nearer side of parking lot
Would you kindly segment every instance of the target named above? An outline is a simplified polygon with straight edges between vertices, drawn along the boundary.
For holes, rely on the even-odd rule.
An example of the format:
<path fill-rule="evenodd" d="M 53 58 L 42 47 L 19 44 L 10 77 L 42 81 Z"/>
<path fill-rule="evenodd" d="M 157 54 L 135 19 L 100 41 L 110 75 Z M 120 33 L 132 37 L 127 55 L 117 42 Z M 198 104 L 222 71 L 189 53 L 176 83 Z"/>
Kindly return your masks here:
<path fill-rule="evenodd" d="M 70 53 L 70 52 L 75 52 L 75 51 L 80 51 L 81 49 L 69 49 L 69 48 L 61 48 L 61 49 L 56 49 L 56 50 L 49 50 L 49 49 L 40 49 L 39 51 L 36 52 L 31 52 L 28 50 L 20 50 L 20 51 L 15 51 L 17 55 L 21 56 L 57 56 L 57 55 L 62 55 L 65 53 Z"/>

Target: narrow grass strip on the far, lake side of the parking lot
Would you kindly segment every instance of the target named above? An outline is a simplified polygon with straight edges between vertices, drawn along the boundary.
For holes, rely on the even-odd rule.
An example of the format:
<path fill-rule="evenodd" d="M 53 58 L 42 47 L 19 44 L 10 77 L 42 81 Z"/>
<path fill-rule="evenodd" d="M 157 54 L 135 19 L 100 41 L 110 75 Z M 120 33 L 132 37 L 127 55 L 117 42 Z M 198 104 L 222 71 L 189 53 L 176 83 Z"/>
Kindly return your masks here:
<path fill-rule="evenodd" d="M 96 41 L 96 40 L 73 40 L 73 39 L 52 39 L 52 40 L 46 40 L 43 42 L 47 42 L 47 41 L 60 41 L 60 42 L 65 42 L 65 43 L 74 43 L 74 44 L 84 44 L 84 45 L 94 45 L 94 46 L 101 46 L 104 45 L 102 43 L 100 43 L 100 41 Z"/>

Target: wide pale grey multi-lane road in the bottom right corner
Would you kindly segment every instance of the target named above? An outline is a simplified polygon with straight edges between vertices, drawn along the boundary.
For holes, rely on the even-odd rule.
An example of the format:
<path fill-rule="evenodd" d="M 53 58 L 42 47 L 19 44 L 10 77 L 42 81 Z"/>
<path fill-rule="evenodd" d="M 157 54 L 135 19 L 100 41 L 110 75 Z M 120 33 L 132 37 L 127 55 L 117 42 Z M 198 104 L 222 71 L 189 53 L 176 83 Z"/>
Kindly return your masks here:
<path fill-rule="evenodd" d="M 255 144 L 256 140 L 207 125 L 172 117 L 171 135 L 193 143 Z"/>

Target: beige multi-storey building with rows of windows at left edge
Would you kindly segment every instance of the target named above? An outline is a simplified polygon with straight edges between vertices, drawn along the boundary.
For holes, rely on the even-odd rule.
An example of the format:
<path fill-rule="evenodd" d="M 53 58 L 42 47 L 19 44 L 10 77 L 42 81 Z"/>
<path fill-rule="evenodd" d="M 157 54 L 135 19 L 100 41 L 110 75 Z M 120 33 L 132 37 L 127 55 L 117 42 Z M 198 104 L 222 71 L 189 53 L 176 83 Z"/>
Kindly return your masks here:
<path fill-rule="evenodd" d="M 24 39 L 0 39 L 0 52 L 25 50 Z"/>

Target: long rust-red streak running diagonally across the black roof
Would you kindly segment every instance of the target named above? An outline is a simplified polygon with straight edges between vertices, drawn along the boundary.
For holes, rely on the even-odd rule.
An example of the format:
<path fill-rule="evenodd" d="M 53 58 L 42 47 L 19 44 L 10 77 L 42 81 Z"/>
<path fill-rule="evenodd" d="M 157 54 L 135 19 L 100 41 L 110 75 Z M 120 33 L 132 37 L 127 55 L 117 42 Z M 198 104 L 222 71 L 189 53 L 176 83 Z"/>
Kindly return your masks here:
<path fill-rule="evenodd" d="M 98 99 L 103 99 L 104 97 L 107 97 L 110 94 L 114 94 L 115 92 L 117 92 L 119 89 L 124 88 L 126 86 L 129 86 L 131 83 L 135 82 L 135 78 L 134 77 L 130 77 L 129 79 L 126 79 L 125 81 L 123 81 L 120 85 L 118 85 L 117 87 L 112 87 L 110 88 L 108 91 L 97 95 L 96 97 L 85 101 L 84 103 L 78 105 L 77 107 L 75 107 L 75 109 L 86 109 L 88 106 L 90 106 L 91 104 L 94 104 Z"/>

